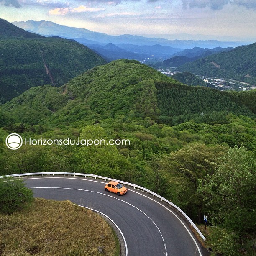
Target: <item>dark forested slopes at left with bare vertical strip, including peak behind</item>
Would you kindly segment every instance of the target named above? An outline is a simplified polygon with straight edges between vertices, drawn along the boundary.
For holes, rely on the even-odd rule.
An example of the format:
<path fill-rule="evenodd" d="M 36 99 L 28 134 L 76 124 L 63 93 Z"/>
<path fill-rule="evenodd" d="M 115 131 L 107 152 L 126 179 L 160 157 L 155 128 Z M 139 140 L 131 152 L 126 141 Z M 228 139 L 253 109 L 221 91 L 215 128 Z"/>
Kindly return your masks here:
<path fill-rule="evenodd" d="M 0 36 L 0 103 L 11 100 L 30 87 L 44 84 L 59 87 L 82 72 L 106 63 L 76 41 L 36 38 L 36 34 L 26 31 L 23 37 L 23 29 L 5 20 L 1 22 L 6 26 L 0 26 L 0 34 L 3 35 Z M 10 32 L 9 36 L 6 31 Z M 35 38 L 29 38 L 30 34 Z M 18 35 L 20 37 L 15 37 Z"/>

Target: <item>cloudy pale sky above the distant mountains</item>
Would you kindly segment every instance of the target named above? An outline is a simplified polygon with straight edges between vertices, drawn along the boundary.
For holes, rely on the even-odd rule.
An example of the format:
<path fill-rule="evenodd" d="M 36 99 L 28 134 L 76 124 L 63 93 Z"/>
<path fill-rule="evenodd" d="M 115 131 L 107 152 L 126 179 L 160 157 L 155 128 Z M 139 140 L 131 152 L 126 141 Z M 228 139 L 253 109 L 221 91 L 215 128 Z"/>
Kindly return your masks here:
<path fill-rule="evenodd" d="M 0 0 L 0 18 L 110 35 L 256 41 L 256 0 Z"/>

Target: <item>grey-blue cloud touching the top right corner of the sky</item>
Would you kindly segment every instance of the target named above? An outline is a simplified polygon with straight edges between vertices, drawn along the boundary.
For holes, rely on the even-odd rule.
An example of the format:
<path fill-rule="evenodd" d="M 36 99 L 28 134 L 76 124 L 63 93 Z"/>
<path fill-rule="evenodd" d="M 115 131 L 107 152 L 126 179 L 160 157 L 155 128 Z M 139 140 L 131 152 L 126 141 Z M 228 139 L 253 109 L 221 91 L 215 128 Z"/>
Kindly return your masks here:
<path fill-rule="evenodd" d="M 228 3 L 256 10 L 256 0 L 182 0 L 185 9 L 210 7 L 212 10 L 221 10 Z"/>

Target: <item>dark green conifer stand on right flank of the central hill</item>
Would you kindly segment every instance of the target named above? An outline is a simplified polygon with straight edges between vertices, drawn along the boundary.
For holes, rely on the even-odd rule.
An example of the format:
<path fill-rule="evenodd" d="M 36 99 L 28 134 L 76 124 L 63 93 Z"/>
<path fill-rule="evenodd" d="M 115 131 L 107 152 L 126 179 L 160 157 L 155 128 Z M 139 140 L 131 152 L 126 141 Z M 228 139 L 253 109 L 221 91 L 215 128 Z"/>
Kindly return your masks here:
<path fill-rule="evenodd" d="M 160 123 L 177 125 L 189 120 L 221 123 L 226 113 L 256 117 L 256 108 L 252 104 L 252 99 L 256 100 L 255 90 L 221 92 L 207 87 L 166 82 L 157 82 L 156 88 Z"/>

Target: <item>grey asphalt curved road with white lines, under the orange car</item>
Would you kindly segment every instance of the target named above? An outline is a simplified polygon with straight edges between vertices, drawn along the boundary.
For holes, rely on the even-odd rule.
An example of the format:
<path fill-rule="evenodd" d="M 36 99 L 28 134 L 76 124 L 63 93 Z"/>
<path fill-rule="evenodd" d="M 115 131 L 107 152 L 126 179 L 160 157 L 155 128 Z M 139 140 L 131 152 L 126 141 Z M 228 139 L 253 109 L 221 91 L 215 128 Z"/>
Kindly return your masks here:
<path fill-rule="evenodd" d="M 111 218 L 122 231 L 128 256 L 201 256 L 200 246 L 183 220 L 160 202 L 138 190 L 123 196 L 107 193 L 107 182 L 83 178 L 24 179 L 35 197 L 70 200 Z"/>

